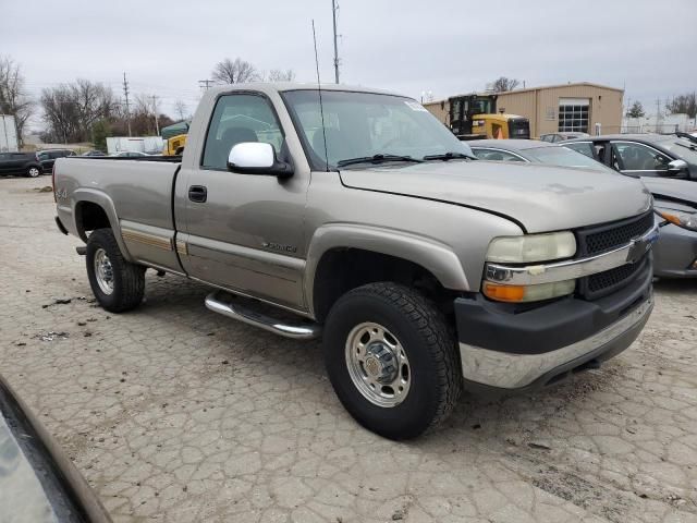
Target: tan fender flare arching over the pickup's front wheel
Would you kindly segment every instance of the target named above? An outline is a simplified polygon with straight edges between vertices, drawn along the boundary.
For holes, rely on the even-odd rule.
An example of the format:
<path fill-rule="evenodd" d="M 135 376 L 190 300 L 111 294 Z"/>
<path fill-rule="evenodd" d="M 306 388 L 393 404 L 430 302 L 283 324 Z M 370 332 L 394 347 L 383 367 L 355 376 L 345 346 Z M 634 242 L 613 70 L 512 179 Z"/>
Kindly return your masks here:
<path fill-rule="evenodd" d="M 321 257 L 332 248 L 360 248 L 420 265 L 447 288 L 468 291 L 469 282 L 455 253 L 445 244 L 395 229 L 330 223 L 315 232 L 307 252 L 305 300 L 314 316 L 314 287 Z"/>

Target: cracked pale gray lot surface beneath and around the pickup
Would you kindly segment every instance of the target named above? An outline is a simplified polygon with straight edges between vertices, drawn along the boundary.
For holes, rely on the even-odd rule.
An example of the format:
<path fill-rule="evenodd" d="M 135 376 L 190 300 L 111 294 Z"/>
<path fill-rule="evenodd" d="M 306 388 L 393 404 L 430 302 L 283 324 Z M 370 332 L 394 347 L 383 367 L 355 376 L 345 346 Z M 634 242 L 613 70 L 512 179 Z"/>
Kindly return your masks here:
<path fill-rule="evenodd" d="M 464 397 L 396 443 L 344 412 L 317 343 L 207 311 L 203 285 L 148 271 L 139 309 L 98 308 L 47 184 L 0 179 L 0 373 L 114 521 L 697 522 L 697 282 L 658 282 L 601 369 Z"/>

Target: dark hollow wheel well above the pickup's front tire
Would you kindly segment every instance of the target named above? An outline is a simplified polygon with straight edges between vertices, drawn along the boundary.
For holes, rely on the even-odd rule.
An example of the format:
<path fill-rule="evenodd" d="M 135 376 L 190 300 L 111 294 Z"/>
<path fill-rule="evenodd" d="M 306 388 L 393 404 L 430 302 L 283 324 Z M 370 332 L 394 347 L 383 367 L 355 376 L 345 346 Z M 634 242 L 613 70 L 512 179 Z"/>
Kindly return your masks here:
<path fill-rule="evenodd" d="M 458 291 L 447 289 L 428 269 L 408 259 L 355 247 L 334 247 L 322 254 L 311 287 L 315 319 L 323 323 L 332 305 L 346 292 L 367 283 L 393 281 L 414 287 L 445 314 Z"/>

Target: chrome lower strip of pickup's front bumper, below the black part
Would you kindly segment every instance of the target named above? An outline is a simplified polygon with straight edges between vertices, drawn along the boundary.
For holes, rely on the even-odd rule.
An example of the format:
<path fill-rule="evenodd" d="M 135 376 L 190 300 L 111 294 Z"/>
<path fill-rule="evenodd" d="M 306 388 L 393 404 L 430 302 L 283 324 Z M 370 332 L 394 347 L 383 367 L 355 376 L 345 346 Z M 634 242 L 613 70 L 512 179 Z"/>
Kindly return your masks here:
<path fill-rule="evenodd" d="M 590 338 L 541 354 L 511 354 L 460 343 L 463 377 L 501 389 L 526 387 L 550 370 L 611 343 L 637 324 L 645 321 L 652 307 L 651 296 L 625 317 Z"/>

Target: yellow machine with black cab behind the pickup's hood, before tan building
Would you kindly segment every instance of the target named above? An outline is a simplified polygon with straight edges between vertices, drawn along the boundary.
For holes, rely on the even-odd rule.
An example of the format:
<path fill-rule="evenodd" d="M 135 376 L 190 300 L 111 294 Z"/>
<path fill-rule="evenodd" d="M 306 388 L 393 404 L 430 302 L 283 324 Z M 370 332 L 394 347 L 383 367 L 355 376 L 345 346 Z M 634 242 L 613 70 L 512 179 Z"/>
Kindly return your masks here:
<path fill-rule="evenodd" d="M 530 121 L 517 114 L 497 112 L 497 95 L 472 94 L 448 98 L 450 130 L 460 139 L 530 137 Z"/>

